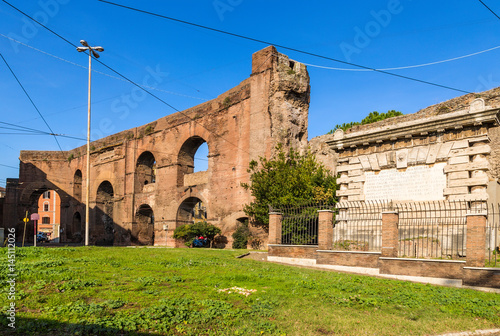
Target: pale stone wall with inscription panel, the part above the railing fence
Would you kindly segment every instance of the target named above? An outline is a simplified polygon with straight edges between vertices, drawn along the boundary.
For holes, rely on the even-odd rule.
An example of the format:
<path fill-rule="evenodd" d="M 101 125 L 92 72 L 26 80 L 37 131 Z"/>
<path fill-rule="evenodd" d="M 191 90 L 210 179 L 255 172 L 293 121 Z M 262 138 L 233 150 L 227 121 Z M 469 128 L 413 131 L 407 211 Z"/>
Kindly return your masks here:
<path fill-rule="evenodd" d="M 338 174 L 340 201 L 496 201 L 499 91 L 339 129 L 311 148 Z"/>

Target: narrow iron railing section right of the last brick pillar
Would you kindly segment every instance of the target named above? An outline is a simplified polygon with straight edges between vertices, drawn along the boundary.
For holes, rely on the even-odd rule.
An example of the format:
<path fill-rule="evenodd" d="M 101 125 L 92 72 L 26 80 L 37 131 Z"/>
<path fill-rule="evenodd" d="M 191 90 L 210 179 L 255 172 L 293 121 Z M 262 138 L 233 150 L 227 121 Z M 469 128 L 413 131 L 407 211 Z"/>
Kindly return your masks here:
<path fill-rule="evenodd" d="M 486 266 L 500 267 L 500 204 L 488 205 L 486 222 Z"/>

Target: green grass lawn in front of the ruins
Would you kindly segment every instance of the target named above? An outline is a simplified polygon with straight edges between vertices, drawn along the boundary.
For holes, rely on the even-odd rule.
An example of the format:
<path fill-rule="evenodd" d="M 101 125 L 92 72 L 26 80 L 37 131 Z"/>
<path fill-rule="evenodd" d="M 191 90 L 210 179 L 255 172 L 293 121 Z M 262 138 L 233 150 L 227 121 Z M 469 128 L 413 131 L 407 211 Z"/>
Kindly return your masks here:
<path fill-rule="evenodd" d="M 500 326 L 499 294 L 235 258 L 243 252 L 18 248 L 14 331 L 0 249 L 0 334 L 436 335 Z"/>

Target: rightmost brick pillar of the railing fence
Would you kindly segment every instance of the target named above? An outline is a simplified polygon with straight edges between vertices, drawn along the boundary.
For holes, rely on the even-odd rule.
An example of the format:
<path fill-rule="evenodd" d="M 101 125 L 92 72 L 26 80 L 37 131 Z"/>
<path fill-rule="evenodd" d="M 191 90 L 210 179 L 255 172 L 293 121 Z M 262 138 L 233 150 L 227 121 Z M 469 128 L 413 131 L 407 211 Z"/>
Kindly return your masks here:
<path fill-rule="evenodd" d="M 469 267 L 484 267 L 486 260 L 486 213 L 467 216 L 467 261 Z"/>

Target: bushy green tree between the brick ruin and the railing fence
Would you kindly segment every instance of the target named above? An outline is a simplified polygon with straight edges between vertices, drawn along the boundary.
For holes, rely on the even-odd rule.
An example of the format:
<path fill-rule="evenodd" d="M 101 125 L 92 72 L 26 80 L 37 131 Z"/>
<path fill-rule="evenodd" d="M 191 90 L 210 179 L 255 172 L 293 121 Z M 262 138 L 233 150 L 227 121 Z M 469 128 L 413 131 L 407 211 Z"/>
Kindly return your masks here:
<path fill-rule="evenodd" d="M 245 205 L 245 213 L 255 226 L 269 228 L 269 205 L 296 205 L 310 201 L 335 201 L 336 179 L 316 161 L 309 151 L 300 155 L 290 149 L 276 147 L 274 159 L 259 158 L 250 162 L 250 184 L 242 186 L 252 192 L 254 201 Z"/>

